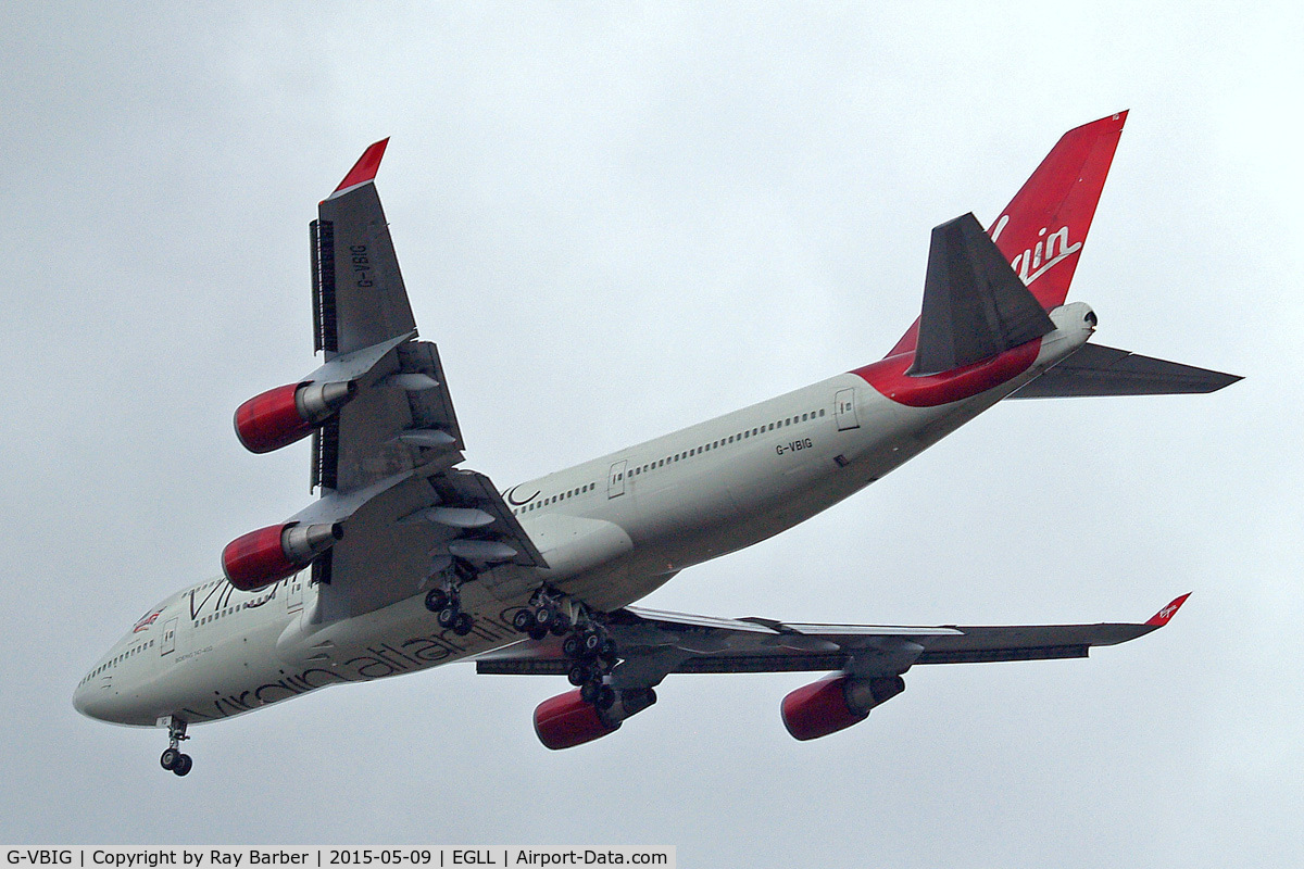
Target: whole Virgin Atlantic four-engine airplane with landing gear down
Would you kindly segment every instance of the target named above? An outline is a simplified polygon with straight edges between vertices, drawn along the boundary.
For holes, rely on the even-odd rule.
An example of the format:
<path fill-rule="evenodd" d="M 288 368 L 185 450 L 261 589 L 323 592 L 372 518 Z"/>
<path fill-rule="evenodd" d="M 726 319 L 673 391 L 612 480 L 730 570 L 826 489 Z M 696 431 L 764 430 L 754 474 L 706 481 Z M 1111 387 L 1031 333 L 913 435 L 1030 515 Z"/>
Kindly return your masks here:
<path fill-rule="evenodd" d="M 670 674 L 822 672 L 789 693 L 798 740 L 865 720 L 915 664 L 1086 657 L 1167 624 L 897 627 L 722 619 L 632 606 L 685 568 L 844 500 L 998 401 L 1213 392 L 1239 377 L 1089 343 L 1065 302 L 1123 130 L 1065 133 L 990 232 L 932 231 L 918 319 L 878 362 L 592 461 L 497 489 L 463 468 L 439 353 L 417 340 L 368 147 L 310 224 L 322 365 L 239 406 L 256 453 L 312 439 L 316 502 L 226 546 L 223 576 L 150 607 L 74 707 L 168 732 L 327 685 L 473 659 L 566 676 L 535 710 L 549 749 L 606 736 Z"/>

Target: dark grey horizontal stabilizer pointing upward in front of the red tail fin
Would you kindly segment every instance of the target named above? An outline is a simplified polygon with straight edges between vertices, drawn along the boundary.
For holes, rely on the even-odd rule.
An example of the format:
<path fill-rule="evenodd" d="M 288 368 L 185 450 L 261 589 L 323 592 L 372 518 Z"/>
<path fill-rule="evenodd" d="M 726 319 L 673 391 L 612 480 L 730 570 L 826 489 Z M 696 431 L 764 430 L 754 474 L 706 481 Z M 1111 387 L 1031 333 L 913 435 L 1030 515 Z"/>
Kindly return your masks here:
<path fill-rule="evenodd" d="M 1055 330 L 971 214 L 932 231 L 914 365 L 925 377 L 988 360 Z"/>

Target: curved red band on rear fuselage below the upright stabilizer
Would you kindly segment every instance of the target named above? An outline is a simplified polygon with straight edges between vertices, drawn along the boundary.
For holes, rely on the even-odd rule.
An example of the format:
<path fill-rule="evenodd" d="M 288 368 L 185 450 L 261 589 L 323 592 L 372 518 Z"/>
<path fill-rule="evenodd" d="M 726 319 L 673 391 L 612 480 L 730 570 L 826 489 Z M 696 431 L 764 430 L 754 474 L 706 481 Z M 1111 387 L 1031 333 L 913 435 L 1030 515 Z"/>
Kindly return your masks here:
<path fill-rule="evenodd" d="M 969 399 L 1018 377 L 1037 361 L 1041 349 L 1042 340 L 1037 339 L 990 360 L 926 377 L 906 374 L 914 363 L 914 353 L 898 353 L 855 369 L 852 374 L 897 404 L 935 408 Z"/>

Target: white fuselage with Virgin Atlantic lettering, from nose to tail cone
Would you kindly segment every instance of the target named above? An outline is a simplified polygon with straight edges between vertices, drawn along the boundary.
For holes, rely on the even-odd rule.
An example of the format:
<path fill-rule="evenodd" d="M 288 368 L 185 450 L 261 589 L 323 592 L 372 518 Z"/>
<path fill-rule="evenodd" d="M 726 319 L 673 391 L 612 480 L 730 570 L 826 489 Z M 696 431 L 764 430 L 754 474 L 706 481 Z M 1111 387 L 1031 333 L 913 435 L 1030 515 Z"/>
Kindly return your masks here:
<path fill-rule="evenodd" d="M 509 489 L 549 568 L 497 568 L 467 584 L 468 636 L 441 629 L 421 594 L 308 629 L 310 571 L 254 593 L 210 580 L 151 608 L 82 679 L 74 705 L 121 724 L 202 723 L 518 642 L 510 616 L 542 580 L 596 610 L 625 606 L 827 509 L 955 431 L 1081 347 L 1081 310 L 1052 311 L 1059 328 L 1028 370 L 956 401 L 909 406 L 840 374 Z"/>

